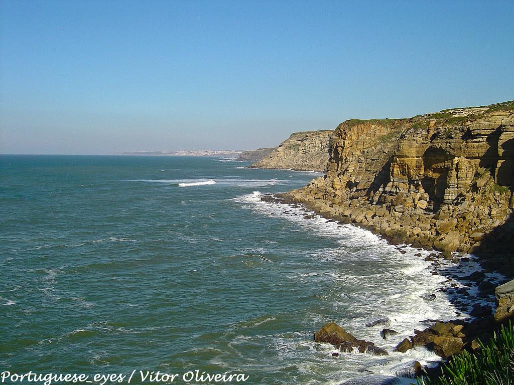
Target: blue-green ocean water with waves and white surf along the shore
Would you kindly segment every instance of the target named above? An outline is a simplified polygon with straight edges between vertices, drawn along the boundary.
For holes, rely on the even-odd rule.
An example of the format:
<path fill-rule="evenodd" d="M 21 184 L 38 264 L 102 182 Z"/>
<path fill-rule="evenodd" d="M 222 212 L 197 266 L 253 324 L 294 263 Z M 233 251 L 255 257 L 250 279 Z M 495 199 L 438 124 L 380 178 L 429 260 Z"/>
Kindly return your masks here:
<path fill-rule="evenodd" d="M 391 352 L 422 320 L 468 316 L 439 293 L 420 298 L 447 279 L 428 269 L 428 252 L 264 203 L 319 174 L 247 164 L 0 156 L 0 370 L 338 384 L 437 360 Z M 398 336 L 365 328 L 382 316 Z M 331 320 L 389 356 L 332 357 L 313 340 Z"/>

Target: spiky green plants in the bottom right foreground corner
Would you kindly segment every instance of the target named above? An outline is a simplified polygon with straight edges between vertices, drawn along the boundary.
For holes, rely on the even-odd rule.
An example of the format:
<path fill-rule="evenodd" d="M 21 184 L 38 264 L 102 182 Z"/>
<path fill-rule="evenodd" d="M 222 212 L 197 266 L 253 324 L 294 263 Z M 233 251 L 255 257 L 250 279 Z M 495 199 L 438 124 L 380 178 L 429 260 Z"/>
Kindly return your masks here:
<path fill-rule="evenodd" d="M 443 363 L 433 379 L 418 378 L 418 385 L 514 385 L 514 328 L 502 326 L 476 354 L 464 351 Z"/>

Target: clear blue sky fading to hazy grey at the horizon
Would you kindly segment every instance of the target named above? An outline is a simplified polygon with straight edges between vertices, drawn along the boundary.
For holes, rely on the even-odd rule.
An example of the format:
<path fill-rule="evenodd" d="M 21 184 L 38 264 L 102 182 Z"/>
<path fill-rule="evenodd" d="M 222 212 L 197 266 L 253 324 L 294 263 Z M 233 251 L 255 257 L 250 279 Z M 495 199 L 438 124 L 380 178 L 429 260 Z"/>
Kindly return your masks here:
<path fill-rule="evenodd" d="M 276 146 L 514 99 L 514 1 L 0 0 L 0 152 Z"/>

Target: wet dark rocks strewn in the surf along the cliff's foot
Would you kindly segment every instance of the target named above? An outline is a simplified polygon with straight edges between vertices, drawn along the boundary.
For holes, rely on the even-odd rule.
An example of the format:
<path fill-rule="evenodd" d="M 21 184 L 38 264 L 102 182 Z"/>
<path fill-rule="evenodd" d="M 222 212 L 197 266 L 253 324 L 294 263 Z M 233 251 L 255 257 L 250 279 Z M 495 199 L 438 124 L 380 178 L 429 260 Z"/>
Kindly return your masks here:
<path fill-rule="evenodd" d="M 303 208 L 305 212 L 303 218 L 307 221 L 319 214 L 328 221 L 338 222 L 339 225 L 347 224 L 346 221 L 338 221 L 339 217 L 329 213 L 313 214 L 315 207 L 295 201 L 290 194 L 264 195 L 261 200 L 269 204 L 287 204 Z M 387 239 L 387 237 L 384 238 Z M 393 244 L 397 245 L 396 248 L 400 253 L 405 253 L 403 249 L 407 247 L 406 244 L 398 244 L 394 239 Z M 421 257 L 421 254 L 418 256 Z M 451 360 L 454 354 L 463 350 L 478 351 L 480 349 L 479 340 L 486 342 L 492 336 L 493 331 L 498 328 L 499 323 L 514 314 L 512 313 L 514 311 L 514 282 L 495 273 L 495 266 L 481 263 L 480 259 L 475 256 L 433 251 L 425 260 L 430 263 L 431 274 L 444 275 L 447 279 L 443 281 L 436 292 L 427 293 L 420 300 L 430 302 L 437 296 L 446 296 L 455 307 L 456 317 L 447 321 L 437 319 L 422 321 L 426 328 L 413 330 L 411 336 L 399 340 L 393 352 L 408 355 L 411 349 L 424 347 L 436 353 L 442 360 Z M 480 266 L 480 268 L 477 270 L 474 268 L 475 266 Z M 393 339 L 398 334 L 394 330 L 395 325 L 387 317 L 378 317 L 362 325 L 363 328 L 375 327 L 375 329 L 377 326 L 380 326 L 379 329 L 381 329 L 377 329 L 377 333 L 384 340 Z M 339 357 L 342 353 L 377 356 L 387 356 L 390 353 L 373 342 L 347 333 L 334 322 L 323 325 L 315 333 L 314 339 L 318 342 L 331 343 L 337 350 L 332 353 L 334 357 Z M 416 360 L 410 360 L 392 368 L 394 376 L 376 375 L 370 368 L 370 370 L 364 370 L 363 373 L 368 375 L 362 379 L 356 378 L 346 381 L 344 384 L 387 385 L 395 383 L 398 377 L 414 378 L 420 375 L 434 377 L 440 373 L 440 362 L 442 361 L 424 366 Z"/>

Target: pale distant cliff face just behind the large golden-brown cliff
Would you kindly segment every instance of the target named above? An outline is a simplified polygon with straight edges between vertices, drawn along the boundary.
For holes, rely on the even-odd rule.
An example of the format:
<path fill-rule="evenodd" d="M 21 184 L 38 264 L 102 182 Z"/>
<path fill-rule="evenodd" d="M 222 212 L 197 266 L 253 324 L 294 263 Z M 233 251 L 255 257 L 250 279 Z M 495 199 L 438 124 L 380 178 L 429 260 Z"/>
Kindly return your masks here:
<path fill-rule="evenodd" d="M 325 171 L 332 132 L 331 130 L 295 132 L 252 167 Z"/>

